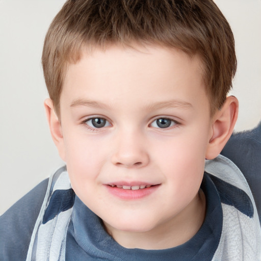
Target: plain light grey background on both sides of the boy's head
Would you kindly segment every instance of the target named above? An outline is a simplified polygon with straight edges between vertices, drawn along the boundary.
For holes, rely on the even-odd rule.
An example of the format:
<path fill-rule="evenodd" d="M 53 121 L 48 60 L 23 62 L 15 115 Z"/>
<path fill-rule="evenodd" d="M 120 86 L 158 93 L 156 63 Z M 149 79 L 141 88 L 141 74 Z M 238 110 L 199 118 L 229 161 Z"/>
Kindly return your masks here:
<path fill-rule="evenodd" d="M 0 214 L 63 165 L 50 138 L 40 64 L 45 33 L 65 0 L 0 0 Z M 261 119 L 261 1 L 216 0 L 236 38 L 236 130 Z"/>

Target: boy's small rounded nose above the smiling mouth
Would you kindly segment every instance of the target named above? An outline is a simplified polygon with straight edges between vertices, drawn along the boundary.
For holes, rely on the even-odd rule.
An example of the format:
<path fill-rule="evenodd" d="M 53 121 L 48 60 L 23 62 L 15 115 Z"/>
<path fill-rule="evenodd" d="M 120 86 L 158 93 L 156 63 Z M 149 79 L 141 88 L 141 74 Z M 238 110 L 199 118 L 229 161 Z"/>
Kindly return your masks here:
<path fill-rule="evenodd" d="M 118 167 L 141 168 L 149 163 L 145 139 L 137 132 L 117 135 L 113 146 L 112 163 Z"/>

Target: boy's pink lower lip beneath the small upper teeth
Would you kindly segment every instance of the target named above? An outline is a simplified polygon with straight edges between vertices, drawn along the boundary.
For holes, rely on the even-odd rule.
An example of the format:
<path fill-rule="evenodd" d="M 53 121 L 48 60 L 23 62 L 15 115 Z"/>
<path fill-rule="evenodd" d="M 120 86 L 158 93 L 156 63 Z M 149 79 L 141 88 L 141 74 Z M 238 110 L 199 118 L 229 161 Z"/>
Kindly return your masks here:
<path fill-rule="evenodd" d="M 111 194 L 113 194 L 114 196 L 120 199 L 135 200 L 135 199 L 144 198 L 152 194 L 160 187 L 160 185 L 155 185 L 150 188 L 139 189 L 139 190 L 124 190 L 117 187 L 111 187 L 109 185 L 106 185 L 106 187 Z"/>

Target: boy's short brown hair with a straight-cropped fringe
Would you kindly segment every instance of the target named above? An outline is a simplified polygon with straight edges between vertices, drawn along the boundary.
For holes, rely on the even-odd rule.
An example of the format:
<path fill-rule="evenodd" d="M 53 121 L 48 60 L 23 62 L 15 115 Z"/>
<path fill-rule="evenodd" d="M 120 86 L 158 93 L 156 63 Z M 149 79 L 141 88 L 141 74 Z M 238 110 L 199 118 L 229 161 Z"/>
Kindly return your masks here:
<path fill-rule="evenodd" d="M 237 59 L 229 24 L 212 0 L 68 0 L 50 24 L 42 54 L 57 114 L 66 68 L 83 47 L 134 41 L 198 54 L 211 114 L 222 107 Z"/>

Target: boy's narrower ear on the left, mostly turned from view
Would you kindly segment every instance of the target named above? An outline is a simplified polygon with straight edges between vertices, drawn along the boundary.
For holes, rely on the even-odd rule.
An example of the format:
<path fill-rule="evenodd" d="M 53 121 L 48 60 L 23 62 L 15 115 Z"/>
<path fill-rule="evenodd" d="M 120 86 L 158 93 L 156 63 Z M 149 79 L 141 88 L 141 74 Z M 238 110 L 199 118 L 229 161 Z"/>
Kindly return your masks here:
<path fill-rule="evenodd" d="M 44 101 L 44 108 L 50 128 L 51 137 L 53 138 L 61 159 L 65 161 L 64 139 L 62 134 L 61 122 L 56 115 L 53 100 L 49 98 L 46 99 Z"/>

